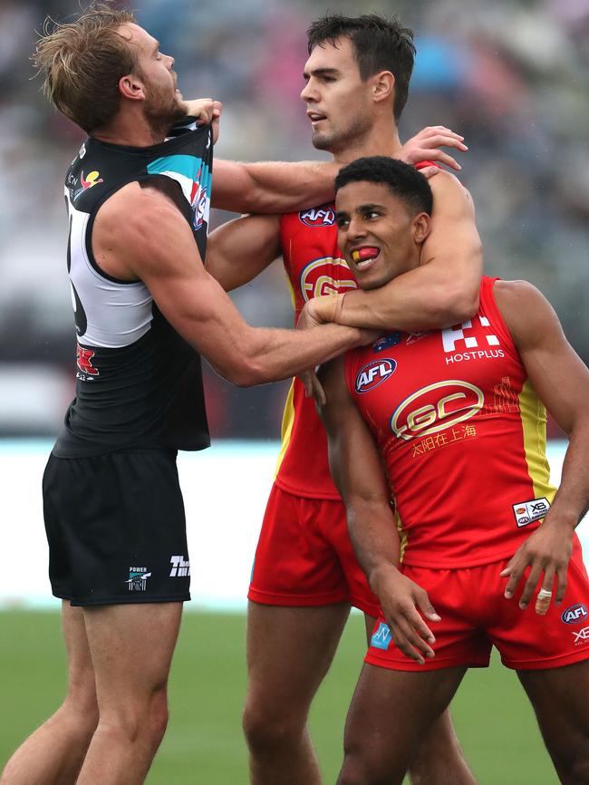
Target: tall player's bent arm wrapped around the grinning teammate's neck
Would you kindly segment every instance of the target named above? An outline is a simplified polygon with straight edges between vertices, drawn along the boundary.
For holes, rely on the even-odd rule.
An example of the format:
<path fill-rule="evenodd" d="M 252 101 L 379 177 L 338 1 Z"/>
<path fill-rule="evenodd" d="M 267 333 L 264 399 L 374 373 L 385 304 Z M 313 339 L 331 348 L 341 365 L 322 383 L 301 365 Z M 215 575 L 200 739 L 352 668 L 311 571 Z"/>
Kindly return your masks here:
<path fill-rule="evenodd" d="M 420 267 L 379 289 L 338 295 L 344 297 L 338 324 L 431 330 L 457 325 L 477 313 L 483 254 L 472 199 L 446 171 L 430 179 L 430 186 L 434 207 Z M 334 298 L 316 297 L 307 307 L 316 321 L 331 321 Z"/>

